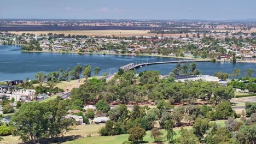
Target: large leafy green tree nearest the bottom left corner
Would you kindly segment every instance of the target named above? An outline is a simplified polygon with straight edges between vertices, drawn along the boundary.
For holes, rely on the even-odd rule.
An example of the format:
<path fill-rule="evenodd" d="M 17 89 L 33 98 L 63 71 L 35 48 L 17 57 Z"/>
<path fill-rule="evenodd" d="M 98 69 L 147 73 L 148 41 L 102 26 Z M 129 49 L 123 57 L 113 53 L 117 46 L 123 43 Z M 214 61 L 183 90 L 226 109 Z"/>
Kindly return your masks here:
<path fill-rule="evenodd" d="M 11 123 L 17 128 L 14 135 L 20 136 L 23 141 L 33 143 L 43 139 L 48 131 L 46 109 L 48 108 L 44 104 L 38 102 L 23 104 L 11 118 Z"/>

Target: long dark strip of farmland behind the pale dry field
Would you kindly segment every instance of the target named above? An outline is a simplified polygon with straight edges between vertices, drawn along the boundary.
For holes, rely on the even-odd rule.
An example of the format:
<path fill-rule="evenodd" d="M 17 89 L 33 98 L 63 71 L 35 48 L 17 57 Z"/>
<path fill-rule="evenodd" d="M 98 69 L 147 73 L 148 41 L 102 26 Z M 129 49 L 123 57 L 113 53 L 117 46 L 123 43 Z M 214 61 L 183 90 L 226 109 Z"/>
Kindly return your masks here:
<path fill-rule="evenodd" d="M 92 31 L 92 30 L 150 30 L 150 29 L 205 29 L 177 27 L 133 26 L 0 26 L 0 31 Z M 213 29 L 211 29 L 213 30 Z"/>

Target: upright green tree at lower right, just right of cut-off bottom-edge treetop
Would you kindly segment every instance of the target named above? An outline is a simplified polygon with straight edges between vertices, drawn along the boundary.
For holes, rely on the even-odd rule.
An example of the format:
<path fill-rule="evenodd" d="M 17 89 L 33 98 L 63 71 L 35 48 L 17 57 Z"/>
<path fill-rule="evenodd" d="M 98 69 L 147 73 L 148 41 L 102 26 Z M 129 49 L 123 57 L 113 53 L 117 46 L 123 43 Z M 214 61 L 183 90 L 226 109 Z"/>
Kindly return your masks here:
<path fill-rule="evenodd" d="M 209 129 L 210 119 L 208 118 L 197 118 L 193 124 L 193 132 L 198 137 L 201 142 L 203 135 L 206 134 L 206 131 Z"/>

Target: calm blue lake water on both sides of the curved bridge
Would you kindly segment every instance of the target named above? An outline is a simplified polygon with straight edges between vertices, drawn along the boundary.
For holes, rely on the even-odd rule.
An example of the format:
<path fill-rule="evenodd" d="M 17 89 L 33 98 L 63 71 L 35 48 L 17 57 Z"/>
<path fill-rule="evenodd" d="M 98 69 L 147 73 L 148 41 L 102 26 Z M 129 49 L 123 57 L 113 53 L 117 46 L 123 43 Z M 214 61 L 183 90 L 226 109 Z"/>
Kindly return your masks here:
<path fill-rule="evenodd" d="M 119 56 L 119 55 L 96 55 L 86 54 L 78 55 L 71 53 L 33 53 L 20 52 L 20 46 L 0 45 L 0 80 L 25 80 L 26 77 L 34 78 L 34 74 L 38 71 L 49 73 L 58 71 L 60 68 L 64 70 L 67 67 L 74 68 L 75 65 L 91 65 L 92 69 L 100 67 L 103 73 L 115 73 L 119 67 L 128 63 L 145 63 L 145 62 L 161 62 L 161 61 L 178 61 L 183 59 L 150 57 L 150 56 Z M 176 66 L 176 64 L 158 64 L 148 65 L 139 68 L 137 71 L 158 70 L 161 74 L 167 75 Z M 213 75 L 216 71 L 225 71 L 231 73 L 234 68 L 244 71 L 247 68 L 254 69 L 256 73 L 256 63 L 236 63 L 229 62 L 201 62 L 197 63 L 197 69 L 203 74 Z M 254 74 L 256 77 L 256 74 Z"/>

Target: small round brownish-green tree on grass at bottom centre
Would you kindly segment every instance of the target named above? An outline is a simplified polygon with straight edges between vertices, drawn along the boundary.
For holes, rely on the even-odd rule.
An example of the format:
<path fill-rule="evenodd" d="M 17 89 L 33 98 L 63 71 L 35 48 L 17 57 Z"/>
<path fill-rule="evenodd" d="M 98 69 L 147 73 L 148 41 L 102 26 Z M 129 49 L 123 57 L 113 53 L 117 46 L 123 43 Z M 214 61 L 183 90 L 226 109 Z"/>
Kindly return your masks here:
<path fill-rule="evenodd" d="M 141 127 L 134 127 L 129 130 L 129 141 L 133 143 L 138 143 L 143 140 L 143 137 L 146 135 L 146 130 Z"/>

